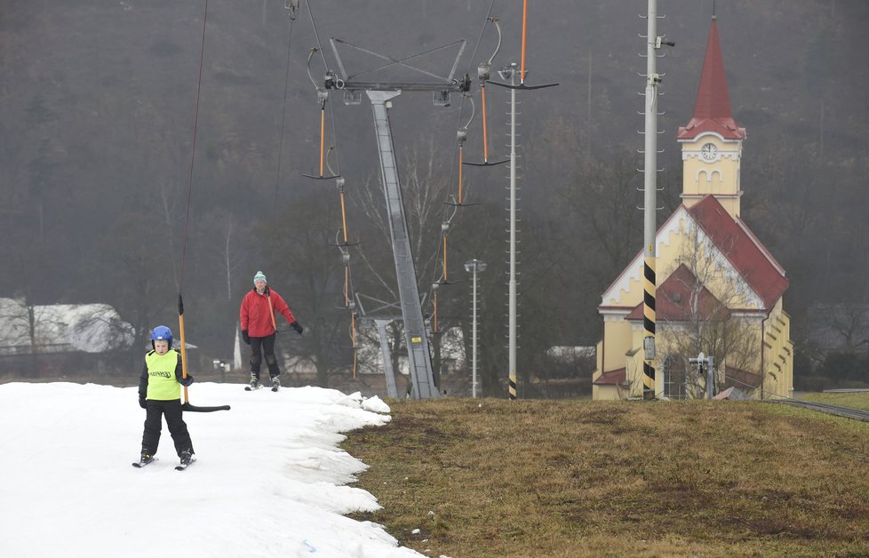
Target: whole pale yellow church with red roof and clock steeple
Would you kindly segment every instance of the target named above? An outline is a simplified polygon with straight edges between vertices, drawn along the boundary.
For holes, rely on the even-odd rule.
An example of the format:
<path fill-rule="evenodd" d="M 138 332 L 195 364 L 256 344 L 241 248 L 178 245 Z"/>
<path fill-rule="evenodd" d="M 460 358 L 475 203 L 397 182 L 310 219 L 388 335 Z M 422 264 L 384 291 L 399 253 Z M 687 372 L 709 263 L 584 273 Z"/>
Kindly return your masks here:
<path fill-rule="evenodd" d="M 740 219 L 745 128 L 730 108 L 717 21 L 690 122 L 679 128 L 682 204 L 655 235 L 657 399 L 702 398 L 735 388 L 758 399 L 793 395 L 785 269 Z M 603 336 L 592 376 L 594 399 L 643 396 L 642 251 L 603 293 Z M 690 358 L 713 357 L 714 372 Z M 733 393 L 732 390 L 730 393 Z"/>

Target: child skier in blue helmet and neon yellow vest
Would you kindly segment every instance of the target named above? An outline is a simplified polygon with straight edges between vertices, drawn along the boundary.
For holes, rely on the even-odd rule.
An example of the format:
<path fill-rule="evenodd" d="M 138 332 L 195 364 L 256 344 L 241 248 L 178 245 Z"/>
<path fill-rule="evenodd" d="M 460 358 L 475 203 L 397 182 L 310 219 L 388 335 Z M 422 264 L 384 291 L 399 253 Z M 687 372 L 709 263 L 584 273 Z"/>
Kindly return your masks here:
<path fill-rule="evenodd" d="M 193 442 L 187 424 L 181 418 L 180 387 L 192 384 L 193 377 L 182 378 L 181 354 L 171 348 L 172 332 L 169 328 L 159 325 L 151 331 L 151 347 L 154 350 L 145 355 L 139 380 L 139 406 L 147 411 L 142 454 L 140 462 L 133 465 L 145 466 L 154 460 L 165 416 L 181 466 L 188 466 L 194 459 Z"/>

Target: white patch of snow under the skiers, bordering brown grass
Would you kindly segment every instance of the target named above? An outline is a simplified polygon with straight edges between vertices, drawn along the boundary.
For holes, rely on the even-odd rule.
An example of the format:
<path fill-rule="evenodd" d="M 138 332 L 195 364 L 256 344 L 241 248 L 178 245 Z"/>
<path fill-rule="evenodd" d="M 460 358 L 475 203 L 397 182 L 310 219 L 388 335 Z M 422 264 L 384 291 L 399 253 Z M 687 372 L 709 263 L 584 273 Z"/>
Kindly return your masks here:
<path fill-rule="evenodd" d="M 347 486 L 366 466 L 338 448 L 384 425 L 389 408 L 320 387 L 245 392 L 194 384 L 184 413 L 197 462 L 179 459 L 163 421 L 155 463 L 139 458 L 136 387 L 0 385 L 0 556 L 420 556 L 381 526 L 344 516 L 379 509 Z"/>

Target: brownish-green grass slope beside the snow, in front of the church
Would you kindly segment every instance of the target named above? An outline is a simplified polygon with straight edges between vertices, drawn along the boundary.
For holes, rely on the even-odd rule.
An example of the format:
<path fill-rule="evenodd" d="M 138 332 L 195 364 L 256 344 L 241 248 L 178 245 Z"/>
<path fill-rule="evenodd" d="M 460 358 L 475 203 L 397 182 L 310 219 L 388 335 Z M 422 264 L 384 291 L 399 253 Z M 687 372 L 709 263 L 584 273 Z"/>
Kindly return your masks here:
<path fill-rule="evenodd" d="M 865 395 L 864 395 L 865 396 Z M 869 554 L 869 423 L 752 402 L 389 400 L 343 446 L 430 556 Z"/>

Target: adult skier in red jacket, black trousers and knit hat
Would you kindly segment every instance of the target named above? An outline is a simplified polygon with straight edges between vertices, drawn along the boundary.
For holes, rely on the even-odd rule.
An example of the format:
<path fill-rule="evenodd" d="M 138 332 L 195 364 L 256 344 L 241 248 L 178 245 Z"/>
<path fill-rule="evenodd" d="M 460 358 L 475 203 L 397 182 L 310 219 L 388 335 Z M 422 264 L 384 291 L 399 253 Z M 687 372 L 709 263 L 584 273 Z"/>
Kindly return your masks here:
<path fill-rule="evenodd" d="M 261 271 L 253 276 L 253 289 L 244 295 L 242 307 L 239 310 L 241 318 L 242 338 L 251 346 L 251 385 L 246 389 L 253 390 L 262 387 L 259 383 L 259 368 L 265 357 L 268 366 L 268 376 L 271 379 L 272 391 L 281 387 L 281 368 L 275 358 L 275 312 L 283 315 L 290 327 L 299 335 L 303 328 L 293 317 L 290 307 L 277 291 L 268 288 L 266 275 Z"/>

